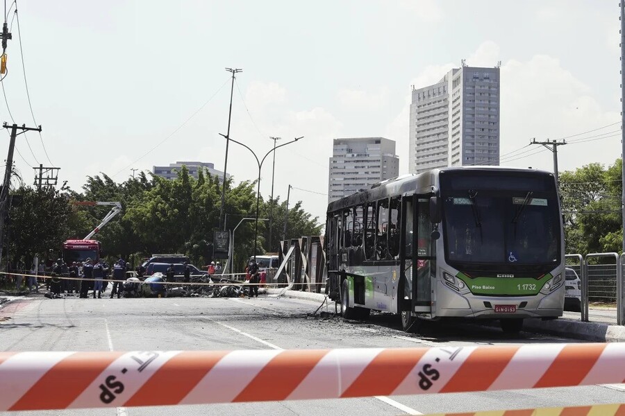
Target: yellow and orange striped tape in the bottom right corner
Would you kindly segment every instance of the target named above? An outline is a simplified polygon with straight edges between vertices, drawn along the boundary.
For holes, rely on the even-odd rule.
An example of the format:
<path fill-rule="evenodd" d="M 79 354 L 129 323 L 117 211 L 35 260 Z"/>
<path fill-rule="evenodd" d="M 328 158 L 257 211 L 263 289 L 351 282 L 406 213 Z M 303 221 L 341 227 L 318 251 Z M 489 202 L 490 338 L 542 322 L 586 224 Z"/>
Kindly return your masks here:
<path fill-rule="evenodd" d="M 487 410 L 462 413 L 428 413 L 426 416 L 623 416 L 625 404 L 598 404 L 523 410 Z"/>

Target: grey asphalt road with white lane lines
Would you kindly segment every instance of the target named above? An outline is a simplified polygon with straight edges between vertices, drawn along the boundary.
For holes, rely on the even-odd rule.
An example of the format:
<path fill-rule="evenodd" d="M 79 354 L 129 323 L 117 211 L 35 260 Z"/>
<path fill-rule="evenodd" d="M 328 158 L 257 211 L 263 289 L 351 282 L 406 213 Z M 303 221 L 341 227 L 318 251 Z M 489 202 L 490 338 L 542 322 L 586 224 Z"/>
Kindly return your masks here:
<path fill-rule="evenodd" d="M 392 315 L 347 322 L 332 310 L 311 315 L 306 300 L 67 299 L 15 300 L 0 308 L 1 351 L 176 349 L 301 349 L 418 347 L 512 343 L 575 343 L 572 339 L 494 327 L 444 325 L 426 336 L 403 333 Z M 327 313 L 326 313 L 327 312 Z M 383 383 L 383 380 L 381 380 Z M 206 406 L 25 412 L 19 415 L 399 415 L 625 402 L 622 385 L 365 399 L 284 401 Z M 0 413 L 14 415 L 15 413 Z"/>

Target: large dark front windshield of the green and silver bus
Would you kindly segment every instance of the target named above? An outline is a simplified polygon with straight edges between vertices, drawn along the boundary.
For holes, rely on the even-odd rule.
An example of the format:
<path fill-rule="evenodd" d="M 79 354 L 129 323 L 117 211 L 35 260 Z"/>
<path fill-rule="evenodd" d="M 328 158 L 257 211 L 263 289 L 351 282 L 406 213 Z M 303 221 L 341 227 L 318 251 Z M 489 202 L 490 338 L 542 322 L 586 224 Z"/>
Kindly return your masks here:
<path fill-rule="evenodd" d="M 546 194 L 536 198 L 532 191 L 503 195 L 471 190 L 444 197 L 447 261 L 510 266 L 560 261 L 556 194 L 553 198 L 545 198 Z"/>

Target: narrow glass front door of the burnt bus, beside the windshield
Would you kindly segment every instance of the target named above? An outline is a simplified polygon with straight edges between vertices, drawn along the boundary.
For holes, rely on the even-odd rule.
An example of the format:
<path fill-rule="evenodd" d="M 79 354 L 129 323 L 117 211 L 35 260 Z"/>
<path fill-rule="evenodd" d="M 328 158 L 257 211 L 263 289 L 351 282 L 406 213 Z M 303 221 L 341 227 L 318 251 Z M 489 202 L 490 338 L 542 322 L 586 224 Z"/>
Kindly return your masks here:
<path fill-rule="evenodd" d="M 431 274 L 436 270 L 435 250 L 432 247 L 432 223 L 430 221 L 430 196 L 413 196 L 413 224 L 416 232 L 412 234 L 412 256 L 416 259 L 412 267 L 412 309 L 415 312 L 428 313 L 432 308 Z"/>

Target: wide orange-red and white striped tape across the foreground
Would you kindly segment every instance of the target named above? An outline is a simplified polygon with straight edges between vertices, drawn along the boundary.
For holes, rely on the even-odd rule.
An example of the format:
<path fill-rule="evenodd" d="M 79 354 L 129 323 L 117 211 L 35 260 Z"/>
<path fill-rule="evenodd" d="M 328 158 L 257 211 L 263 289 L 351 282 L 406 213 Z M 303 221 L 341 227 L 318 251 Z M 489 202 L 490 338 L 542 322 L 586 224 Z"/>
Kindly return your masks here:
<path fill-rule="evenodd" d="M 0 411 L 337 399 L 624 380 L 622 343 L 0 352 Z"/>

